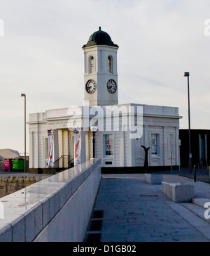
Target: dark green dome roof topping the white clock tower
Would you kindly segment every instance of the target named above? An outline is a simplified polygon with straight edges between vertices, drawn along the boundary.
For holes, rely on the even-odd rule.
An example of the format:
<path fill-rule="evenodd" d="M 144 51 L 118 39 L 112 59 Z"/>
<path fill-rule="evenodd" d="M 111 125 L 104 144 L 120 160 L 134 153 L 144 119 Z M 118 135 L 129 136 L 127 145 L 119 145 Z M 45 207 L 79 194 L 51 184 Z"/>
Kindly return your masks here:
<path fill-rule="evenodd" d="M 111 41 L 110 35 L 101 30 L 101 27 L 99 27 L 99 30 L 97 32 L 94 32 L 90 36 L 89 41 L 87 42 L 87 44 L 83 46 L 83 48 L 95 45 L 107 45 L 118 47 L 117 44 L 114 44 L 113 41 Z"/>

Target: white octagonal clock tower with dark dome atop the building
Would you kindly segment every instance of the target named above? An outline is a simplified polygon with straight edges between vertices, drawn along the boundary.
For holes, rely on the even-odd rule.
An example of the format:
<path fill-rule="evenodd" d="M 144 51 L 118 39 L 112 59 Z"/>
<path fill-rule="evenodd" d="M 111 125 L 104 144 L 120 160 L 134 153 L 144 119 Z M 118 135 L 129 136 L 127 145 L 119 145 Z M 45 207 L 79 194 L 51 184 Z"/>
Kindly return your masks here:
<path fill-rule="evenodd" d="M 84 105 L 118 105 L 118 45 L 102 31 L 94 32 L 87 44 L 85 53 L 85 98 Z"/>

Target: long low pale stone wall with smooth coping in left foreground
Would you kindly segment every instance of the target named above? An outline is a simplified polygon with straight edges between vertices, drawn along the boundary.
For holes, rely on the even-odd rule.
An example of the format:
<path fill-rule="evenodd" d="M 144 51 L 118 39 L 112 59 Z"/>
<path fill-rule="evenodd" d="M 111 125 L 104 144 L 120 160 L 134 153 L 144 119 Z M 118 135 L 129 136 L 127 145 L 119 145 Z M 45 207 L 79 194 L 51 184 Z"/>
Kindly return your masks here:
<path fill-rule="evenodd" d="M 1 198 L 0 242 L 83 241 L 100 181 L 91 160 Z"/>

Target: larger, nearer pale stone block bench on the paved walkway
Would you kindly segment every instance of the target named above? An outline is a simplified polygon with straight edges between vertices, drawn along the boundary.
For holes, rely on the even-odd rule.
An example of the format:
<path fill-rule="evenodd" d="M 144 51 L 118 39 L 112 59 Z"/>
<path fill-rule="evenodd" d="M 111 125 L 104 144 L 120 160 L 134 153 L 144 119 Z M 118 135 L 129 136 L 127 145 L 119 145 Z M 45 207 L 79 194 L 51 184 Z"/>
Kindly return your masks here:
<path fill-rule="evenodd" d="M 195 198 L 195 186 L 190 184 L 162 182 L 162 192 L 175 203 L 188 203 Z"/>

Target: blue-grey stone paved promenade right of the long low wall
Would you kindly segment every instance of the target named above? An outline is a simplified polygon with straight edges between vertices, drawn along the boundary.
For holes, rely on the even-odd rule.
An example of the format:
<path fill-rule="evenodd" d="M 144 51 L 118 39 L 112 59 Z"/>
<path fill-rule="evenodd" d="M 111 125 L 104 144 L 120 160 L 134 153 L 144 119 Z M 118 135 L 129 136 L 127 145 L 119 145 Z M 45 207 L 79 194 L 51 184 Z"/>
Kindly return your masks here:
<path fill-rule="evenodd" d="M 192 179 L 164 175 L 164 181 Z M 210 202 L 209 184 L 195 184 L 196 198 Z M 104 210 L 102 242 L 209 242 L 206 209 L 193 203 L 174 203 L 161 185 L 149 185 L 144 174 L 103 175 L 94 210 Z"/>

